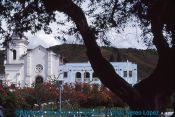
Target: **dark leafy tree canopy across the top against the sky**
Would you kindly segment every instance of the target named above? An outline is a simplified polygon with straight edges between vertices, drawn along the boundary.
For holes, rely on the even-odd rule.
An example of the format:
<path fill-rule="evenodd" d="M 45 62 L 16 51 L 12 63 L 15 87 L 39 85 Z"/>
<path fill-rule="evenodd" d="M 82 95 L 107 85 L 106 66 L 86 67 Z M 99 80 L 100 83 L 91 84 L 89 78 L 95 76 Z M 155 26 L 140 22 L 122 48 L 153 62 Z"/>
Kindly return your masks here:
<path fill-rule="evenodd" d="M 60 16 L 56 18 L 56 12 L 50 10 L 48 12 L 46 10 L 45 2 L 45 0 L 2 0 L 0 2 L 0 31 L 3 35 L 2 37 L 6 37 L 7 41 L 10 40 L 10 34 L 14 30 L 17 32 L 31 31 L 32 33 L 36 33 L 43 29 L 49 34 L 52 32 L 49 24 L 56 22 L 60 33 L 74 35 L 77 39 L 81 39 L 75 25 L 71 25 L 66 31 L 60 30 L 59 26 L 67 25 L 66 21 L 72 23 L 70 17 L 65 16 L 66 21 L 60 19 Z M 159 2 L 156 0 L 74 0 L 74 3 L 82 9 L 86 7 L 84 12 L 89 18 L 92 31 L 96 35 L 96 38 L 101 39 L 106 45 L 111 43 L 106 35 L 108 31 L 114 29 L 116 33 L 119 33 L 131 22 L 134 22 L 131 27 L 140 26 L 142 28 L 144 42 L 150 45 L 152 41 L 150 39 L 150 25 L 153 15 L 159 15 L 161 22 L 166 24 L 164 31 L 167 34 L 171 35 L 174 28 L 174 20 L 170 18 L 174 17 L 172 10 L 173 0 L 168 0 L 167 2 L 163 0 Z M 52 3 L 48 2 L 48 4 L 55 7 Z M 168 10 L 168 8 L 171 9 Z M 169 13 L 167 14 L 166 11 L 169 11 Z M 6 21 L 8 30 L 2 27 L 2 19 Z M 66 37 L 59 36 L 58 38 L 66 39 Z"/>

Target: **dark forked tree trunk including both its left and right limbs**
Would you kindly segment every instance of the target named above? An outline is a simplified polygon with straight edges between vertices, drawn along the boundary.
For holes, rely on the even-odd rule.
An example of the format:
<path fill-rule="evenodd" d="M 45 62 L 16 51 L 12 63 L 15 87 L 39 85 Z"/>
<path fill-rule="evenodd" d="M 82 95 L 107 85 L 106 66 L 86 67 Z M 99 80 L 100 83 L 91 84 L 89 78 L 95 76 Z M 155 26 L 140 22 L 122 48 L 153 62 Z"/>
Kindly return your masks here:
<path fill-rule="evenodd" d="M 90 64 L 101 82 L 125 101 L 134 110 L 162 110 L 167 95 L 172 93 L 174 86 L 174 49 L 170 49 L 162 36 L 160 24 L 153 22 L 154 44 L 158 49 L 159 61 L 153 74 L 131 87 L 116 74 L 112 65 L 103 58 L 95 41 L 95 35 L 87 24 L 81 8 L 71 0 L 56 0 L 54 4 L 43 0 L 47 11 L 61 11 L 75 22 L 80 31 Z M 160 35 L 161 34 L 161 35 Z M 145 115 L 141 115 L 144 117 Z M 155 115 L 158 116 L 158 115 Z M 138 116 L 137 116 L 138 117 Z M 152 116 L 153 117 L 153 116 Z"/>

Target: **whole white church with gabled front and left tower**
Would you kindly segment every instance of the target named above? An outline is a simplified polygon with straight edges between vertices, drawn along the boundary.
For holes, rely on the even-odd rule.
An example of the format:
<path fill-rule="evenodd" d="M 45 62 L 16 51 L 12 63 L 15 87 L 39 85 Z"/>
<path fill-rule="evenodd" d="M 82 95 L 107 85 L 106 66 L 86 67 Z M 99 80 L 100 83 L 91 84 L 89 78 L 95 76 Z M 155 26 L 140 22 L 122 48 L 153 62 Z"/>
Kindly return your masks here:
<path fill-rule="evenodd" d="M 42 46 L 27 49 L 26 37 L 13 33 L 7 49 L 5 83 L 16 86 L 31 86 L 36 81 L 47 81 L 58 76 L 60 56 Z"/>

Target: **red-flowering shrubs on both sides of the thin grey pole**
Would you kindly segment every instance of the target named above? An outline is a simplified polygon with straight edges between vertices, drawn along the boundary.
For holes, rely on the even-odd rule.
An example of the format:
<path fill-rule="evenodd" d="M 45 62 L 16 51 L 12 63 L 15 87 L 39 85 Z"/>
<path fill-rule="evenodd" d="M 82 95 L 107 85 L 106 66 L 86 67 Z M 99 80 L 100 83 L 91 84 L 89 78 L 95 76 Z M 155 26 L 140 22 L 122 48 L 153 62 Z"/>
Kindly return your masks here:
<path fill-rule="evenodd" d="M 49 83 L 40 84 L 37 87 L 16 89 L 14 93 L 18 109 L 35 109 L 36 104 L 41 108 L 42 104 L 48 105 L 50 102 L 57 106 L 59 100 L 59 89 Z M 64 109 L 108 107 L 109 105 L 125 106 L 121 99 L 107 88 L 86 83 L 65 84 L 62 101 Z"/>

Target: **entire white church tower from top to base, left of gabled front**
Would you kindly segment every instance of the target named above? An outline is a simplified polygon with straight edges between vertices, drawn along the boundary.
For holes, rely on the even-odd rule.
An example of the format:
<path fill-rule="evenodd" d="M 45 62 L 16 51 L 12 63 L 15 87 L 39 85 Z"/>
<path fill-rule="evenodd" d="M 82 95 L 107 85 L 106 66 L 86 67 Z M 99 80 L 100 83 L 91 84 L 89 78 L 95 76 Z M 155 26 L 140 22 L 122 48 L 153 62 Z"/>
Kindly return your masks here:
<path fill-rule="evenodd" d="M 12 40 L 6 53 L 5 66 L 5 83 L 8 86 L 20 86 L 24 82 L 24 59 L 27 54 L 27 38 L 17 32 L 13 32 Z"/>

